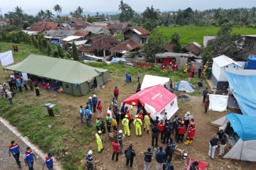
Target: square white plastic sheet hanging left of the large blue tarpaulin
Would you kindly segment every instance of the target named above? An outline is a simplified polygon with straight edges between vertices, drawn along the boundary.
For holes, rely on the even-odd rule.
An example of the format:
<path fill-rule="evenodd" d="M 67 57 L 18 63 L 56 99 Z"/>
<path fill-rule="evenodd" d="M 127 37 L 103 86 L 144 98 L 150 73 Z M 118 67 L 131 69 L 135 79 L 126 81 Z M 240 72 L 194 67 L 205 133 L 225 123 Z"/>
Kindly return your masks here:
<path fill-rule="evenodd" d="M 209 110 L 223 112 L 227 111 L 228 96 L 210 94 L 209 95 Z"/>

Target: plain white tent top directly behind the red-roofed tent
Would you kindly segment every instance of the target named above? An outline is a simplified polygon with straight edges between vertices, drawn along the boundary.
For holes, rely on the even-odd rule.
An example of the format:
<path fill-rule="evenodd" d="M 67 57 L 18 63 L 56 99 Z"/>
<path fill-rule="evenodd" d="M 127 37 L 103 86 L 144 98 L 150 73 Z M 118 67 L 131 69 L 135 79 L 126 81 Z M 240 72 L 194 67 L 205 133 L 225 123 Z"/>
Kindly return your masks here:
<path fill-rule="evenodd" d="M 168 77 L 156 77 L 146 74 L 142 81 L 141 89 L 145 89 L 147 87 L 155 86 L 158 84 L 161 84 L 162 86 L 166 84 L 166 87 L 170 89 L 171 79 Z"/>

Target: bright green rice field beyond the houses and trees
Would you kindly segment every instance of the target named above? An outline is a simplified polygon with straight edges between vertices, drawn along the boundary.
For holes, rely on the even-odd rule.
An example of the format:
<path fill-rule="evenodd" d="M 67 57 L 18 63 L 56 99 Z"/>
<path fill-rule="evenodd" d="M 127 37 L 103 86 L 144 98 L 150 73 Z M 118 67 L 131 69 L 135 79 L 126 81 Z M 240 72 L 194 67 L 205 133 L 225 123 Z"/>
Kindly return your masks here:
<path fill-rule="evenodd" d="M 179 33 L 181 36 L 181 45 L 187 45 L 193 41 L 198 42 L 200 45 L 203 45 L 203 35 L 216 35 L 220 27 L 193 27 L 193 30 L 188 29 L 186 27 L 179 27 L 179 28 L 156 28 L 159 32 L 166 35 L 167 39 L 166 42 L 171 40 L 171 35 L 174 34 L 175 31 Z M 169 31 L 168 31 L 169 30 Z M 241 35 L 255 35 L 256 30 L 253 28 L 232 28 L 233 33 L 238 33 Z"/>

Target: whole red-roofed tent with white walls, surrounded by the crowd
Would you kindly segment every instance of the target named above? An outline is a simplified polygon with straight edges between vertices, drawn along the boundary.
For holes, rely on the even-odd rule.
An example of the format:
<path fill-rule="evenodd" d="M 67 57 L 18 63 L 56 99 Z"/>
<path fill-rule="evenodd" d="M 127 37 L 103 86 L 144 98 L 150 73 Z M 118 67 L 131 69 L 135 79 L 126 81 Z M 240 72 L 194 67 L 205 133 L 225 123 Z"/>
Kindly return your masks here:
<path fill-rule="evenodd" d="M 135 103 L 136 107 L 138 103 L 141 103 L 145 110 L 151 113 L 150 116 L 153 120 L 156 116 L 159 116 L 159 118 L 164 117 L 165 112 L 169 119 L 178 111 L 176 95 L 164 88 L 164 86 L 161 86 L 161 84 L 145 88 L 122 101 L 122 103 L 125 103 L 125 106 L 128 106 L 128 108 L 132 106 L 132 103 Z M 134 110 L 136 111 L 136 109 Z"/>

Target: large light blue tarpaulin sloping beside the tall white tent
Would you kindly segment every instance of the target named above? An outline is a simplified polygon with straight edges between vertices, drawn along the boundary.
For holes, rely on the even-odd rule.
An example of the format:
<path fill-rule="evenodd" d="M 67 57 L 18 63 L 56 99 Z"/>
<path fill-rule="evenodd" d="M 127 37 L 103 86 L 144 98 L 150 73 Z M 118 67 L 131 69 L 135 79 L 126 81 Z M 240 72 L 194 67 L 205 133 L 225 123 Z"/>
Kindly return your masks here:
<path fill-rule="evenodd" d="M 242 114 L 256 116 L 256 74 L 253 74 L 252 70 L 241 70 L 239 74 L 225 74 Z"/>

